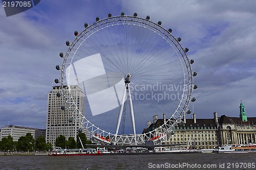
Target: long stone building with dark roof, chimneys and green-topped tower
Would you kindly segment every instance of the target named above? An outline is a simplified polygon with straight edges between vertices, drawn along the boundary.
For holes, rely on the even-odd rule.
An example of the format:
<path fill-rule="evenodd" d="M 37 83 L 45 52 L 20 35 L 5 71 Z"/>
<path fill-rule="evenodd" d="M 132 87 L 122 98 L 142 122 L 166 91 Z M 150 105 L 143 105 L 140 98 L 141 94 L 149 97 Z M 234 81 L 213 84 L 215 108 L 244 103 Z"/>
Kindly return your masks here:
<path fill-rule="evenodd" d="M 147 129 L 153 130 L 164 123 L 162 119 L 153 117 L 153 124 L 147 122 Z M 166 121 L 166 120 L 165 120 Z M 154 127 L 152 129 L 152 127 Z M 256 139 L 256 117 L 247 117 L 244 104 L 240 104 L 239 117 L 218 117 L 214 112 L 212 119 L 186 119 L 185 115 L 182 124 L 177 124 L 173 129 L 174 134 L 167 134 L 166 144 L 184 144 L 191 149 L 214 149 L 225 144 L 248 144 L 255 143 Z"/>

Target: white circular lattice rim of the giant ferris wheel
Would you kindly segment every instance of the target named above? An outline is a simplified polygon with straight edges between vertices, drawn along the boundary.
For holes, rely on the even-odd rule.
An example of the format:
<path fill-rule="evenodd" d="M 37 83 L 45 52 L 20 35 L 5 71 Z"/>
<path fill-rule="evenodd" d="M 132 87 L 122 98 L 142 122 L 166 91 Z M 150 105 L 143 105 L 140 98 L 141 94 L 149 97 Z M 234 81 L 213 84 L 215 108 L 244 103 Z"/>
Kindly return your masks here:
<path fill-rule="evenodd" d="M 140 18 L 140 17 L 137 17 L 137 16 L 136 16 L 136 17 L 135 17 L 135 16 L 126 16 L 126 15 L 125 15 L 125 16 L 113 16 L 113 17 L 105 18 L 105 19 L 98 20 L 98 21 L 94 22 L 92 25 L 88 26 L 86 29 L 84 29 L 81 33 L 79 33 L 79 34 L 76 36 L 76 38 L 72 41 L 71 45 L 69 46 L 67 52 L 65 53 L 65 57 L 63 58 L 63 62 L 62 62 L 62 65 L 61 65 L 61 77 L 60 77 L 60 83 L 61 83 L 62 91 L 63 91 L 63 90 L 66 90 L 67 87 L 68 87 L 68 89 L 70 89 L 70 85 L 69 85 L 69 84 L 66 84 L 67 82 L 69 82 L 69 80 L 67 80 L 66 82 L 63 81 L 63 79 L 66 78 L 66 76 L 64 75 L 64 74 L 65 74 L 65 73 L 64 73 L 64 70 L 65 70 L 66 62 L 67 62 L 67 60 L 69 59 L 68 57 L 69 57 L 69 55 L 70 55 L 70 52 L 72 51 L 72 48 L 75 46 L 75 44 L 79 41 L 79 38 L 81 38 L 81 37 L 83 37 L 84 35 L 86 35 L 85 32 L 87 32 L 88 29 L 93 28 L 94 26 L 96 26 L 95 28 L 97 28 L 97 27 L 99 27 L 99 26 L 101 26 L 101 25 L 104 25 L 104 24 L 106 24 L 106 23 L 110 23 L 110 22 L 104 22 L 104 21 L 107 21 L 107 20 L 110 20 L 110 19 L 114 19 L 114 18 L 116 18 L 116 19 L 118 19 L 118 18 L 126 18 L 126 20 L 127 20 L 127 18 L 132 18 L 132 19 L 135 19 L 135 20 L 132 20 L 132 19 L 131 19 L 132 22 L 137 22 L 136 20 L 139 20 L 139 21 L 140 21 L 139 23 L 147 22 L 147 26 L 148 26 L 148 23 L 151 23 L 154 27 L 157 27 L 157 28 L 159 28 L 159 29 L 161 29 L 161 30 L 164 30 L 165 33 L 169 33 L 168 30 L 164 29 L 164 28 L 163 28 L 161 25 L 159 25 L 158 23 L 153 22 L 153 21 L 151 21 L 151 20 L 149 20 L 149 19 Z M 142 23 L 142 24 L 143 24 L 143 23 Z M 117 26 L 118 26 L 118 24 L 117 24 Z M 103 28 L 102 28 L 102 29 L 103 29 Z M 91 30 L 90 30 L 90 31 L 91 31 Z M 88 32 L 89 32 L 89 31 L 88 31 Z M 187 78 L 189 79 L 189 80 L 185 80 L 185 76 L 184 76 L 184 83 L 185 83 L 185 81 L 188 82 L 188 83 L 187 83 L 188 92 L 186 93 L 186 96 L 187 96 L 187 97 L 186 97 L 186 100 L 185 100 L 185 102 L 182 102 L 182 101 L 181 101 L 181 102 L 179 103 L 178 107 L 177 107 L 177 110 L 175 111 L 175 112 L 180 112 L 180 113 L 178 113 L 178 114 L 179 114 L 178 117 L 175 117 L 174 114 L 172 114 L 172 116 L 169 117 L 169 118 L 166 120 L 166 123 L 165 123 L 164 125 L 160 126 L 159 128 L 155 129 L 154 131 L 147 132 L 147 133 L 144 133 L 144 134 L 136 134 L 136 136 L 131 135 L 131 137 L 135 137 L 135 138 L 137 138 L 137 137 L 138 137 L 138 138 L 144 137 L 144 138 L 147 138 L 146 136 L 147 136 L 148 134 L 151 134 L 151 135 L 154 136 L 153 133 L 154 133 L 155 131 L 159 130 L 159 129 L 165 129 L 164 132 L 167 132 L 167 131 L 172 130 L 173 125 L 176 125 L 176 124 L 178 124 L 178 123 L 180 122 L 180 120 L 181 120 L 181 118 L 182 118 L 182 115 L 185 114 L 185 111 L 186 111 L 186 109 L 187 109 L 187 107 L 188 107 L 188 104 L 189 104 L 189 101 L 190 101 L 190 98 L 191 98 L 191 93 L 192 93 L 192 91 L 193 91 L 193 88 L 192 88 L 192 85 L 193 85 L 193 72 L 192 72 L 192 70 L 191 70 L 191 65 L 190 65 L 190 63 L 189 63 L 188 57 L 187 57 L 187 55 L 186 55 L 186 52 L 185 52 L 184 48 L 181 46 L 180 42 L 179 42 L 171 33 L 169 33 L 168 35 L 169 35 L 170 37 L 172 37 L 172 40 L 170 40 L 170 41 L 172 41 L 172 42 L 175 41 L 176 45 L 180 47 L 180 51 L 179 51 L 179 52 L 181 53 L 182 59 L 185 61 L 185 64 L 186 64 L 185 68 L 183 69 L 183 72 L 184 72 L 185 70 L 187 71 L 187 72 L 186 72 L 187 75 L 188 75 Z M 90 37 L 90 36 L 89 36 L 89 37 Z M 71 59 L 71 61 L 70 61 L 71 63 L 72 63 L 72 60 L 73 60 L 74 56 L 75 56 L 75 54 L 73 55 L 73 57 L 72 57 L 72 59 Z M 183 96 L 184 96 L 184 90 L 183 90 Z M 180 107 L 181 103 L 184 103 L 183 108 Z M 77 107 L 77 106 L 76 106 L 76 107 Z M 82 114 L 82 113 L 80 113 L 80 114 Z M 174 122 L 174 121 L 175 121 L 175 122 Z M 167 123 L 169 123 L 169 122 L 174 122 L 174 124 L 172 124 L 172 126 L 168 126 Z M 106 133 L 108 136 L 117 135 L 117 134 L 114 134 L 114 133 L 111 133 L 111 132 L 105 132 L 103 129 L 98 128 L 98 127 L 95 126 L 92 122 L 90 122 L 90 120 L 87 119 L 86 117 L 84 117 L 84 122 L 83 122 L 83 123 L 84 123 L 84 124 L 87 124 L 86 126 L 84 126 L 84 127 L 86 127 L 87 129 L 91 128 L 90 131 L 91 131 L 92 133 L 95 133 L 95 132 L 97 132 L 97 131 L 101 131 L 100 133 L 102 133 L 102 132 L 103 132 L 103 133 Z M 122 136 L 128 136 L 128 135 L 117 135 L 117 136 L 122 137 Z M 147 138 L 147 139 L 149 139 L 149 138 Z"/>

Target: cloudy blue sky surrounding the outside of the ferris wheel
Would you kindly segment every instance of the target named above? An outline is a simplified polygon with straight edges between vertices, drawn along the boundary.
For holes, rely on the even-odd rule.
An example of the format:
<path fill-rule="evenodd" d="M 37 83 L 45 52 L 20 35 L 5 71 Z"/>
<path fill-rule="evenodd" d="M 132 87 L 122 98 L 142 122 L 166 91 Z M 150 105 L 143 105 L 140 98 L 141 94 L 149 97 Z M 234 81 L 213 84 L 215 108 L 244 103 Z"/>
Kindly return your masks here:
<path fill-rule="evenodd" d="M 197 118 L 238 117 L 242 102 L 255 117 L 256 1 L 41 1 L 35 7 L 6 17 L 0 7 L 0 128 L 16 125 L 46 127 L 47 97 L 67 40 L 84 22 L 126 15 L 151 16 L 173 29 L 194 59 L 196 102 L 189 108 Z M 53 84 L 55 85 L 55 84 Z M 193 107 L 194 105 L 194 107 Z M 191 118 L 187 115 L 186 118 Z"/>

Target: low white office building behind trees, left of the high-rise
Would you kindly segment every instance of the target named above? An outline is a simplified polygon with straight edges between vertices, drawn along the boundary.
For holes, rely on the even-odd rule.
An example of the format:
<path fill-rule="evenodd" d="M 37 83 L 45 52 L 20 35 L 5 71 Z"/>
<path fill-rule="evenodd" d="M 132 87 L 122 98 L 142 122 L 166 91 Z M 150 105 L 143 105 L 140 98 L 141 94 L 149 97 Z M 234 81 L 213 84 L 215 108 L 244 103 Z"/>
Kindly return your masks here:
<path fill-rule="evenodd" d="M 7 125 L 1 130 L 1 139 L 3 137 L 8 137 L 9 135 L 11 135 L 13 137 L 13 141 L 18 141 L 19 137 L 26 136 L 27 133 L 31 133 L 33 138 L 37 139 L 37 137 L 39 137 L 40 135 L 45 136 L 46 130 Z"/>

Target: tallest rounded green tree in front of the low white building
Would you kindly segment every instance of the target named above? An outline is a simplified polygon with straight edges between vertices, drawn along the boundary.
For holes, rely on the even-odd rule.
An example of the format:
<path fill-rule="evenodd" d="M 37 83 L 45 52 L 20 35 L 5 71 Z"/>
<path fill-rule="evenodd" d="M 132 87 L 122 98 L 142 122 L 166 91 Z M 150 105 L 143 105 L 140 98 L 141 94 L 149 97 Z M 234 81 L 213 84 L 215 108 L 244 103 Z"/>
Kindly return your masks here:
<path fill-rule="evenodd" d="M 16 149 L 18 151 L 33 151 L 35 148 L 34 143 L 35 143 L 35 140 L 31 135 L 31 133 L 27 133 L 26 136 L 19 137 L 17 141 Z"/>

